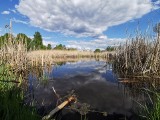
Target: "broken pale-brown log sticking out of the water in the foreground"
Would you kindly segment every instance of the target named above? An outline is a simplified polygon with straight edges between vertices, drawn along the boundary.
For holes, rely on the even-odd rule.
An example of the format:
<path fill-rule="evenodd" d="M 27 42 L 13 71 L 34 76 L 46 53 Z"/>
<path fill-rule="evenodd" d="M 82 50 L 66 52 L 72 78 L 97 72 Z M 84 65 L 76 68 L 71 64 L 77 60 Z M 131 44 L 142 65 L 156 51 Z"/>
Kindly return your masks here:
<path fill-rule="evenodd" d="M 62 108 L 64 108 L 66 105 L 68 105 L 71 101 L 75 101 L 76 99 L 71 96 L 68 98 L 68 100 L 64 101 L 63 103 L 61 103 L 59 106 L 57 106 L 55 109 L 53 109 L 48 115 L 44 116 L 42 118 L 42 120 L 48 120 L 49 118 L 51 118 L 55 113 L 57 113 L 59 110 L 61 110 Z"/>

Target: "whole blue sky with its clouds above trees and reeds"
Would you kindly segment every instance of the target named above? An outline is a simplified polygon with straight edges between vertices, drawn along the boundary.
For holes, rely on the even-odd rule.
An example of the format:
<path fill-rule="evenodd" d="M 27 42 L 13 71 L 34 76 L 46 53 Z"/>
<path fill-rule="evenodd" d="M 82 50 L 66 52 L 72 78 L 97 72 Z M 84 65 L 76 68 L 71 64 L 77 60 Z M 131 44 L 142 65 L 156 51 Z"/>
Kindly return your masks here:
<path fill-rule="evenodd" d="M 160 0 L 0 0 L 0 35 L 30 38 L 36 31 L 45 45 L 83 50 L 123 44 L 137 30 L 154 35 L 160 22 Z"/>

